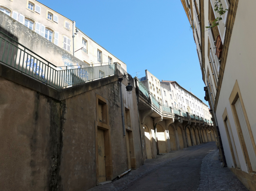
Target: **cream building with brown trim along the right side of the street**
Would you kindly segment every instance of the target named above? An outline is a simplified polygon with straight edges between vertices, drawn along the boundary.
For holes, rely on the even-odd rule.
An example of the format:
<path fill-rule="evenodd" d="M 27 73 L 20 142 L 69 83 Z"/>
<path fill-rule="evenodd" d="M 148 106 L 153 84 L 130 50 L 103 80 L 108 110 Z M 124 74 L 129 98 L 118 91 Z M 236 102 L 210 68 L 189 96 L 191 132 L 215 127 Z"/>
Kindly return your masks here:
<path fill-rule="evenodd" d="M 256 2 L 181 0 L 193 29 L 205 100 L 218 130 L 223 164 L 256 190 L 254 117 Z M 221 11 L 223 10 L 223 11 Z M 221 18 L 221 19 L 218 19 Z M 217 19 L 217 24 L 215 20 Z"/>

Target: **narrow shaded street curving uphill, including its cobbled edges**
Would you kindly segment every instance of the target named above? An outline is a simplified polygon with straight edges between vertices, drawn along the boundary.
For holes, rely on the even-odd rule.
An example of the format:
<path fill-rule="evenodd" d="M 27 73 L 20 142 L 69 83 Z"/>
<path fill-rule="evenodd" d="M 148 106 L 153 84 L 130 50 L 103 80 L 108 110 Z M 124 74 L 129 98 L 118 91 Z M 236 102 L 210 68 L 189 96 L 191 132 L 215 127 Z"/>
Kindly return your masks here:
<path fill-rule="evenodd" d="M 225 177 L 225 178 L 224 178 Z M 127 190 L 247 190 L 228 169 L 223 168 L 215 142 L 157 155 L 137 170 L 90 191 Z"/>

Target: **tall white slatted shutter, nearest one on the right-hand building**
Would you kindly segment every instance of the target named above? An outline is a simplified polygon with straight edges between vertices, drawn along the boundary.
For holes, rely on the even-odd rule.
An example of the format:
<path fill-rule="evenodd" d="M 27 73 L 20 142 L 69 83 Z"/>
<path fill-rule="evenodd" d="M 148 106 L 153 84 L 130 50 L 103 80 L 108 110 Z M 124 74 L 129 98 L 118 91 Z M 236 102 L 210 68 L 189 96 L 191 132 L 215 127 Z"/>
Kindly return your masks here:
<path fill-rule="evenodd" d="M 247 123 L 245 121 L 245 117 L 244 117 L 244 113 L 243 113 L 243 109 L 242 109 L 242 105 L 241 105 L 241 101 L 240 98 L 238 97 L 236 103 L 235 103 L 235 107 L 236 107 L 236 112 L 237 112 L 237 116 L 238 116 L 238 120 L 241 126 L 241 130 L 243 133 L 243 137 L 244 137 L 244 142 L 248 151 L 248 155 L 249 155 L 249 159 L 251 162 L 251 168 L 252 171 L 256 171 L 256 156 L 255 156 L 255 151 L 254 148 L 252 146 L 252 140 L 250 138 L 250 133 L 248 130 L 248 126 Z M 248 161 L 247 161 L 248 162 Z"/>

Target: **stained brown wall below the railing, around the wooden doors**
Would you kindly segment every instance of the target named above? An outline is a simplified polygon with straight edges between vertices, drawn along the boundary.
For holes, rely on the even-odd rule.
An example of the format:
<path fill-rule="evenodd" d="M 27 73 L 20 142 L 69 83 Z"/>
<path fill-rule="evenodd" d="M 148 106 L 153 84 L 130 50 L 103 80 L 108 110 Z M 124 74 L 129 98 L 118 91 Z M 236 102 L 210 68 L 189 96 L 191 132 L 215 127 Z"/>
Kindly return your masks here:
<path fill-rule="evenodd" d="M 9 73 L 7 80 L 2 77 L 9 71 L 6 68 L 0 67 L 2 188 L 87 190 L 96 186 L 96 94 L 108 101 L 112 178 L 127 170 L 117 76 L 63 91 L 44 88 L 35 91 L 32 90 L 36 89 L 32 86 L 33 81 L 40 82 L 24 75 L 24 79 L 15 79 L 16 75 L 22 75 L 18 72 L 16 75 Z M 119 74 L 123 72 L 120 69 Z M 22 86 L 10 81 L 12 78 L 26 83 Z M 132 94 L 127 95 L 126 85 L 125 79 L 122 83 L 123 102 L 130 109 L 137 168 L 143 164 L 137 100 L 135 88 Z"/>

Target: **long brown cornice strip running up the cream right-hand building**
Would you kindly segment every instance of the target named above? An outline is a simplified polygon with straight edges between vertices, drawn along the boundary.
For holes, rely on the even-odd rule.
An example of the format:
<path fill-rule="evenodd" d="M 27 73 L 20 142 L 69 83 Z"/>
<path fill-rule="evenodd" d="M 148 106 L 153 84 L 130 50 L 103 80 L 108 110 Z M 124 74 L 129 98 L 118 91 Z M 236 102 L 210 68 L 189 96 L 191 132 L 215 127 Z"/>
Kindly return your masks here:
<path fill-rule="evenodd" d="M 220 74 L 219 74 L 219 80 L 218 80 L 218 86 L 217 86 L 217 92 L 216 92 L 215 104 L 214 104 L 215 112 L 218 104 L 218 99 L 220 97 L 221 85 L 222 85 L 225 65 L 227 62 L 228 49 L 229 49 L 230 39 L 232 35 L 232 30 L 234 27 L 237 6 L 238 6 L 238 0 L 230 0 L 229 9 L 228 9 L 228 18 L 227 18 L 227 24 L 226 24 L 226 32 L 225 32 L 225 41 L 223 44 Z"/>

